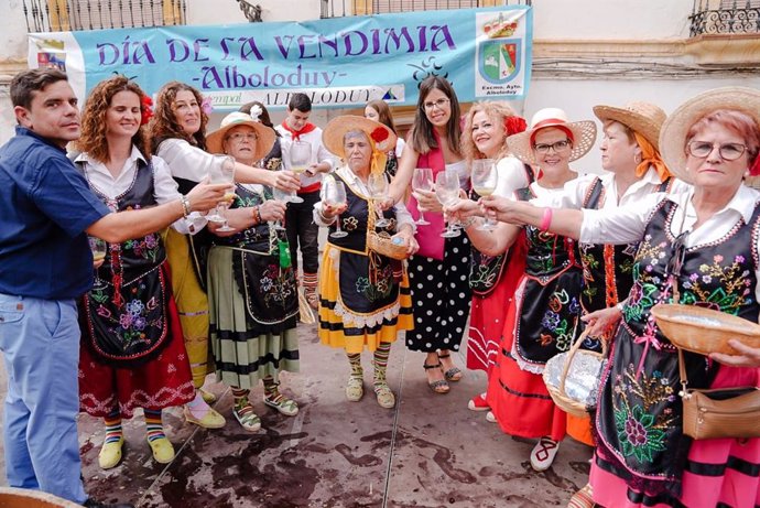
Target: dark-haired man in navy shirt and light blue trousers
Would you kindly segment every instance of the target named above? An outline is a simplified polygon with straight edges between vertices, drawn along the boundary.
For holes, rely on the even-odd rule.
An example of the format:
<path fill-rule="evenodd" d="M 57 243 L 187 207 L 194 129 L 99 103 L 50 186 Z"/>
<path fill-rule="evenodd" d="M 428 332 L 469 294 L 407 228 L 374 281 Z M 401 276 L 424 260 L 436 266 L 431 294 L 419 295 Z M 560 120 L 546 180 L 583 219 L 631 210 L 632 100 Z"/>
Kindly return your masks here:
<path fill-rule="evenodd" d="M 66 75 L 32 69 L 11 82 L 17 136 L 0 148 L 0 350 L 8 370 L 8 483 L 85 506 L 77 442 L 79 326 L 75 299 L 93 283 L 87 235 L 121 242 L 209 209 L 226 185 L 111 213 L 66 158 L 79 137 Z M 196 192 L 196 190 L 198 190 Z"/>

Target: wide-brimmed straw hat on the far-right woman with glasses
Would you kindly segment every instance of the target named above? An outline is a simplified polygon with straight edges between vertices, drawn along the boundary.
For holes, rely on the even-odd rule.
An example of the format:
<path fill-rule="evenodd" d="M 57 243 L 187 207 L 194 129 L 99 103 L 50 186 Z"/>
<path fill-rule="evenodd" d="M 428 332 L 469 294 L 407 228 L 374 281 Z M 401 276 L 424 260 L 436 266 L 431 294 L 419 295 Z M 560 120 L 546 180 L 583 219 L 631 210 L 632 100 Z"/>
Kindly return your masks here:
<path fill-rule="evenodd" d="M 686 136 L 697 120 L 718 109 L 749 115 L 757 128 L 760 128 L 760 90 L 726 86 L 688 99 L 667 117 L 660 131 L 660 154 L 676 179 L 693 183 L 694 180 L 686 171 Z"/>

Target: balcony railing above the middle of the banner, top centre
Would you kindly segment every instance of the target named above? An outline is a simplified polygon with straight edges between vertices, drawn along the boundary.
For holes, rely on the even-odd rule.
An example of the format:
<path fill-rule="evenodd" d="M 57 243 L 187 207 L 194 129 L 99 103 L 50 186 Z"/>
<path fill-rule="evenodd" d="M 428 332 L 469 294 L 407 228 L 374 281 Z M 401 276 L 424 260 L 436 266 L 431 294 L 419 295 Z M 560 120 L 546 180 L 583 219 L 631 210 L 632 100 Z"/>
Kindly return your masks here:
<path fill-rule="evenodd" d="M 322 0 L 322 18 L 384 14 L 432 9 L 471 9 L 493 6 L 530 6 L 532 0 Z"/>

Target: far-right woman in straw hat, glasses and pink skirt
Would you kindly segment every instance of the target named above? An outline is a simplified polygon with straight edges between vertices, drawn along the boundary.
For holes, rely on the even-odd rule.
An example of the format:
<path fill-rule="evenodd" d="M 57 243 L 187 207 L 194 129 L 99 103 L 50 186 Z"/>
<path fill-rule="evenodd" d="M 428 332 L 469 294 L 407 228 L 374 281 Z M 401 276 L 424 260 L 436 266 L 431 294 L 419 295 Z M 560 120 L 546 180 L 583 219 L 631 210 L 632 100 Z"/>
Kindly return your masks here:
<path fill-rule="evenodd" d="M 760 173 L 760 93 L 727 87 L 687 100 L 665 121 L 660 149 L 693 190 L 615 210 L 554 210 L 501 198 L 484 204 L 501 220 L 545 224 L 583 242 L 640 241 L 599 390 L 594 502 L 754 506 L 760 478 L 749 472 L 760 468 L 760 440 L 683 436 L 678 355 L 650 310 L 673 302 L 677 287 L 676 303 L 758 321 L 760 194 L 742 182 Z M 732 361 L 686 353 L 690 386 L 760 387 L 751 352 L 740 352 L 746 356 Z"/>

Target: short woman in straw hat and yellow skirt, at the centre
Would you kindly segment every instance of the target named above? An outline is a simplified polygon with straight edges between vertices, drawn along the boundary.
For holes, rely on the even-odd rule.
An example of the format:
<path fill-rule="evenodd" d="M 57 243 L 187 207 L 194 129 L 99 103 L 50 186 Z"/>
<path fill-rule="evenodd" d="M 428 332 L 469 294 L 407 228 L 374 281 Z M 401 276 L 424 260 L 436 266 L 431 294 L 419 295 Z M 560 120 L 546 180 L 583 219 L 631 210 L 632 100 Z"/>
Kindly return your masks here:
<path fill-rule="evenodd" d="M 369 249 L 368 235 L 392 235 L 393 242 L 405 246 L 409 255 L 417 249 L 414 224 L 403 204 L 386 210 L 388 225 L 376 227 L 380 213 L 369 180 L 387 177 L 384 153 L 395 143 L 395 134 L 376 121 L 344 116 L 330 120 L 322 139 L 345 165 L 325 179 L 322 201 L 314 206 L 314 221 L 333 231 L 319 275 L 318 335 L 323 344 L 346 350 L 351 369 L 346 383 L 349 401 L 363 396 L 361 352 L 365 346 L 372 352 L 378 403 L 392 408 L 395 396 L 386 370 L 398 333 L 412 327 L 409 280 L 403 261 Z M 345 187 L 345 204 L 333 197 L 336 185 Z M 344 237 L 336 237 L 337 226 L 346 233 Z"/>

